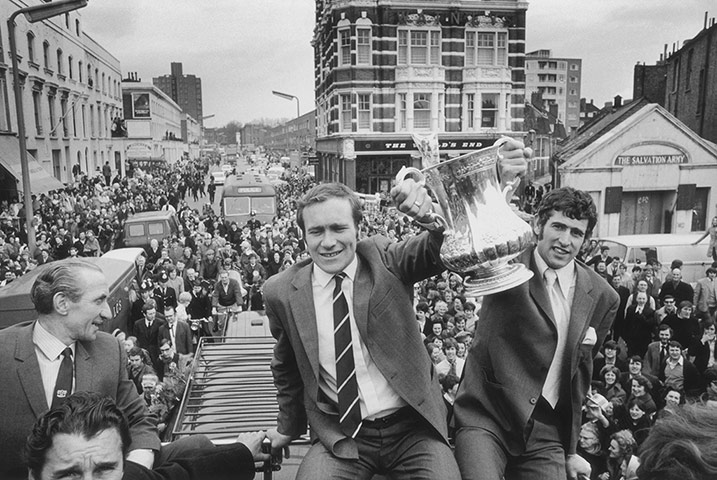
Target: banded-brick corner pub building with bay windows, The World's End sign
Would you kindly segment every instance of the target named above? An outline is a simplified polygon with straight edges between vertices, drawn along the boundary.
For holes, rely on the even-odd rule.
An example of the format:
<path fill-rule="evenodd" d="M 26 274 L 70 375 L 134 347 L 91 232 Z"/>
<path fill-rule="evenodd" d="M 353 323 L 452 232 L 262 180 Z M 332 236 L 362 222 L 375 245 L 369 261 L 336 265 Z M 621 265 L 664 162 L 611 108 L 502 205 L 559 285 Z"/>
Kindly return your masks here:
<path fill-rule="evenodd" d="M 317 0 L 317 178 L 388 191 L 420 167 L 412 132 L 443 156 L 523 136 L 525 12 L 519 0 Z"/>

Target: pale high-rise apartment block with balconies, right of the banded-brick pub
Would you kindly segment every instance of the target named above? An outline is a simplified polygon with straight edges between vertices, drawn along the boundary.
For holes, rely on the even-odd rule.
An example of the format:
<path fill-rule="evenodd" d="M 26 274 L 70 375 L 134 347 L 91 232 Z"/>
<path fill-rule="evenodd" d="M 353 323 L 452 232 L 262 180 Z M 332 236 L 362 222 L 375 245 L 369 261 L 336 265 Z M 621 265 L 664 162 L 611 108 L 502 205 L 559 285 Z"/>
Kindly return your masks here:
<path fill-rule="evenodd" d="M 536 50 L 525 55 L 525 91 L 543 97 L 542 107 L 553 113 L 570 133 L 580 126 L 580 85 L 582 60 L 557 58 L 550 50 Z"/>

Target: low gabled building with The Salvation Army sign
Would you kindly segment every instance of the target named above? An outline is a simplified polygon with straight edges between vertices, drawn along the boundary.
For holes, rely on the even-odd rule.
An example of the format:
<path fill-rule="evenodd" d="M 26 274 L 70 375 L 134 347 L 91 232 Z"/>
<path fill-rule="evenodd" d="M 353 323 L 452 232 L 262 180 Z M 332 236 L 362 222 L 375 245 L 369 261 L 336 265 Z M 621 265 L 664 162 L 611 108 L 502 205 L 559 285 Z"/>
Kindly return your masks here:
<path fill-rule="evenodd" d="M 717 145 L 645 99 L 586 125 L 552 160 L 558 186 L 593 197 L 596 236 L 704 232 L 717 215 Z"/>

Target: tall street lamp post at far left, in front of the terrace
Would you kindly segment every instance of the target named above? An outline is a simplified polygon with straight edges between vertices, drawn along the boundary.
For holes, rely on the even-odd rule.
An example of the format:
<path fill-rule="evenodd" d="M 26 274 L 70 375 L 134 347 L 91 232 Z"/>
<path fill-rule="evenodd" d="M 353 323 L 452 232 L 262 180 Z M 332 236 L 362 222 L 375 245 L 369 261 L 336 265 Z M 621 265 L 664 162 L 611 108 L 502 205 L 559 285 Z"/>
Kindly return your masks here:
<path fill-rule="evenodd" d="M 15 44 L 15 17 L 20 14 L 30 23 L 40 22 L 48 18 L 68 13 L 87 6 L 87 0 L 57 0 L 52 3 L 43 3 L 15 11 L 7 20 L 7 31 L 10 37 L 10 58 L 12 60 L 12 81 L 15 93 L 15 110 L 17 113 L 17 136 L 20 146 L 20 169 L 22 170 L 23 203 L 25 204 L 25 231 L 27 232 L 27 246 L 30 254 L 35 250 L 35 226 L 32 224 L 32 192 L 30 190 L 30 166 L 27 159 L 27 140 L 25 138 L 25 114 L 22 109 L 22 90 L 20 88 L 20 73 L 17 64 L 17 45 Z"/>

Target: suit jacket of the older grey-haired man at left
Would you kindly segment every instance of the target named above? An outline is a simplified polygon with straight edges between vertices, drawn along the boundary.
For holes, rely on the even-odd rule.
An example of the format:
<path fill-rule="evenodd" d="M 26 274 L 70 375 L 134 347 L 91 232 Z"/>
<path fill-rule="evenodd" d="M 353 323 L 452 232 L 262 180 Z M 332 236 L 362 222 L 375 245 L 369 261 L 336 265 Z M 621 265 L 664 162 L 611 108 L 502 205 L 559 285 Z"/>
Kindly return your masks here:
<path fill-rule="evenodd" d="M 0 331 L 0 478 L 4 480 L 27 478 L 20 452 L 35 421 L 49 410 L 32 343 L 33 325 L 25 322 Z M 127 356 L 117 339 L 99 332 L 94 342 L 77 342 L 75 357 L 75 391 L 112 397 L 129 420 L 131 448 L 159 450 L 156 424 L 127 376 Z"/>

